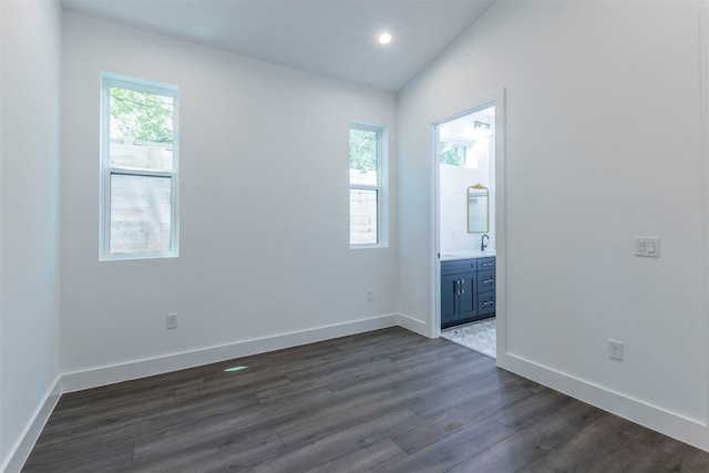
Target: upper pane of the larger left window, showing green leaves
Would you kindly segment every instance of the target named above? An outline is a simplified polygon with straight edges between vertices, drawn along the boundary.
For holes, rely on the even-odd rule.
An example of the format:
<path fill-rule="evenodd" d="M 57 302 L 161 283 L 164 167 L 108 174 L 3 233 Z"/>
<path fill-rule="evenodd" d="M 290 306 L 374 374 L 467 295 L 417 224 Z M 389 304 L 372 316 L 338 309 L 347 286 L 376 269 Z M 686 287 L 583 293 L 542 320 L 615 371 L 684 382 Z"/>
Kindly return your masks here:
<path fill-rule="evenodd" d="M 110 88 L 111 166 L 172 171 L 174 99 Z"/>

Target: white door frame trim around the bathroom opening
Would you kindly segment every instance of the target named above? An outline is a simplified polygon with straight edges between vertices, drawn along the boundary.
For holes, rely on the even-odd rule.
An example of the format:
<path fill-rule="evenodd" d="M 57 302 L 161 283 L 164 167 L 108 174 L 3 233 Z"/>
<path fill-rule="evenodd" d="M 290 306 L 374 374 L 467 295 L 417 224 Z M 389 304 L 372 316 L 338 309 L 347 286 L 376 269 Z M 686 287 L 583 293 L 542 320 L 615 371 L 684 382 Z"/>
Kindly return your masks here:
<path fill-rule="evenodd" d="M 444 110 L 431 120 L 431 148 L 433 162 L 433 222 L 431 223 L 431 320 L 430 336 L 438 338 L 441 335 L 441 267 L 439 265 L 439 253 L 441 249 L 440 230 L 440 167 L 438 160 L 436 143 L 438 125 L 449 122 L 462 115 L 467 115 L 487 106 L 495 106 L 495 297 L 496 297 L 496 325 L 497 325 L 497 359 L 506 352 L 506 189 L 505 189 L 505 90 L 499 89 L 475 99 L 465 101 L 454 107 Z"/>

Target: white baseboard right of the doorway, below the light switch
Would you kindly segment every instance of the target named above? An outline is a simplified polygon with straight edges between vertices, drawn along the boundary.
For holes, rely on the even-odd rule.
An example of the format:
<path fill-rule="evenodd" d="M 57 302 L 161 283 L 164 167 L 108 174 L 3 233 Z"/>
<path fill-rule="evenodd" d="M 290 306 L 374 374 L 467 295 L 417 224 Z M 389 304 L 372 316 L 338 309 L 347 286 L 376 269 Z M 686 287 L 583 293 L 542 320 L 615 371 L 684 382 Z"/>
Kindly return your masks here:
<path fill-rule="evenodd" d="M 709 451 L 707 422 L 648 404 L 512 353 L 499 353 L 497 366 L 604 411 Z"/>

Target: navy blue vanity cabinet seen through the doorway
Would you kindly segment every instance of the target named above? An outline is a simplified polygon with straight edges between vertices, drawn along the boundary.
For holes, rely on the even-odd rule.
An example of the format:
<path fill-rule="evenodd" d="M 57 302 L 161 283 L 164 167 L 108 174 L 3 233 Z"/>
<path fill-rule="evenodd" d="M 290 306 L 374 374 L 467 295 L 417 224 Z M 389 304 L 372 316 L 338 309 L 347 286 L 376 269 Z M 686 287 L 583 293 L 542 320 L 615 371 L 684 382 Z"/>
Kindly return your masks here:
<path fill-rule="evenodd" d="M 495 258 L 441 261 L 441 328 L 495 315 Z"/>

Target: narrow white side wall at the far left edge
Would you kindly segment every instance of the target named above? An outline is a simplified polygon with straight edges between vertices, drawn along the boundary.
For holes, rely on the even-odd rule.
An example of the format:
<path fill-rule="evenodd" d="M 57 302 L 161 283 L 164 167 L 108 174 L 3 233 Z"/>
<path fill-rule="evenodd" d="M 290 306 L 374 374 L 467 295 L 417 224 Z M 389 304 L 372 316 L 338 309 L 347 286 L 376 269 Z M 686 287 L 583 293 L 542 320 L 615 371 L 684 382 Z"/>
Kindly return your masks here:
<path fill-rule="evenodd" d="M 59 2 L 0 2 L 0 471 L 8 472 L 22 464 L 59 380 L 60 45 Z"/>

